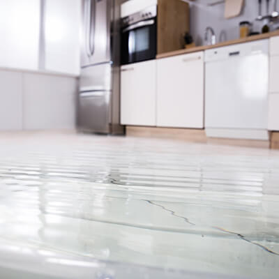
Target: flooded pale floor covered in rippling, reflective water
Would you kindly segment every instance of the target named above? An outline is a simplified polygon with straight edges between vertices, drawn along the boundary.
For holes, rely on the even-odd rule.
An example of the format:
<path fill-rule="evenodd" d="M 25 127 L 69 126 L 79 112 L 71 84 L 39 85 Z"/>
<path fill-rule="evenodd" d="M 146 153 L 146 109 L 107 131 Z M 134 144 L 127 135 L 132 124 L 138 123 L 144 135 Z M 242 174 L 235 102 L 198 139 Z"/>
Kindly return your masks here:
<path fill-rule="evenodd" d="M 27 267 L 30 253 L 278 278 L 279 151 L 3 134 L 0 267 Z"/>

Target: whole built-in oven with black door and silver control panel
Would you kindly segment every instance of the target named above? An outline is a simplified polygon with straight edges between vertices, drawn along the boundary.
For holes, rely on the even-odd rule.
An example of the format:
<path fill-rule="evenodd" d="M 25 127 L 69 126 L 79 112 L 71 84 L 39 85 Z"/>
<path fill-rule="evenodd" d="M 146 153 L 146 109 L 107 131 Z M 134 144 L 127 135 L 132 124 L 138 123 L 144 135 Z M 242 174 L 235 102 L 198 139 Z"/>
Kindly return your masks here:
<path fill-rule="evenodd" d="M 157 6 L 121 19 L 121 64 L 156 58 Z"/>

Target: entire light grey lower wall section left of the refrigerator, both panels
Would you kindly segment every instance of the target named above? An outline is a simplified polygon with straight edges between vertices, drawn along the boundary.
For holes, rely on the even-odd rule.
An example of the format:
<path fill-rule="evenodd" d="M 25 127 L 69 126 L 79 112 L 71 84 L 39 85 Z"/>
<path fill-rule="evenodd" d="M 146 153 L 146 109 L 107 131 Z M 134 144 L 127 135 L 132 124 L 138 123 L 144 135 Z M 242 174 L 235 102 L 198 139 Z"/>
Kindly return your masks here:
<path fill-rule="evenodd" d="M 76 106 L 76 77 L 0 70 L 0 130 L 72 130 Z"/>

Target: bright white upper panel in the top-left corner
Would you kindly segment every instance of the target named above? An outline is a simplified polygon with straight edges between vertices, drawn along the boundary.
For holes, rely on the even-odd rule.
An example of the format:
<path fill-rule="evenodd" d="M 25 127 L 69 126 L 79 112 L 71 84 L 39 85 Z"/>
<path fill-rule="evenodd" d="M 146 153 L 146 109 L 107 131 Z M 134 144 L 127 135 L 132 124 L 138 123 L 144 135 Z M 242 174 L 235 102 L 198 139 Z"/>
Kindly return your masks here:
<path fill-rule="evenodd" d="M 40 0 L 0 1 L 0 67 L 38 69 Z"/>

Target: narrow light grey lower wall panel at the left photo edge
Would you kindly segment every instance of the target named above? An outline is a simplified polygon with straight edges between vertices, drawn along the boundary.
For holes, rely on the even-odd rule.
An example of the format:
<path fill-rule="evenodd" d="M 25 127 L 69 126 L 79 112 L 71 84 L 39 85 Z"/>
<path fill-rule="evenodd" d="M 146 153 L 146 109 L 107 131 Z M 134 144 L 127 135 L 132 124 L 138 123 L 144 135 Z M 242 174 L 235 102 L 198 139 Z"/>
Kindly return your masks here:
<path fill-rule="evenodd" d="M 0 130 L 22 130 L 22 73 L 0 70 Z"/>

